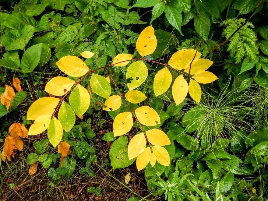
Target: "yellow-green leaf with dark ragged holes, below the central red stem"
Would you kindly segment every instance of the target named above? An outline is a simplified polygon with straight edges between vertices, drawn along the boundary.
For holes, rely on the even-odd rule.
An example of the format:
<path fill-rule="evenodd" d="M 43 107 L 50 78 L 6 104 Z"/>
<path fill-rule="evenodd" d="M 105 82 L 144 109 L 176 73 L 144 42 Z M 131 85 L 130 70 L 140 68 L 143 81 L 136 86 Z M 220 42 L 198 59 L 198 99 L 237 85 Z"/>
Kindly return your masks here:
<path fill-rule="evenodd" d="M 130 64 L 126 72 L 129 90 L 139 87 L 146 80 L 147 76 L 148 69 L 142 61 Z"/>

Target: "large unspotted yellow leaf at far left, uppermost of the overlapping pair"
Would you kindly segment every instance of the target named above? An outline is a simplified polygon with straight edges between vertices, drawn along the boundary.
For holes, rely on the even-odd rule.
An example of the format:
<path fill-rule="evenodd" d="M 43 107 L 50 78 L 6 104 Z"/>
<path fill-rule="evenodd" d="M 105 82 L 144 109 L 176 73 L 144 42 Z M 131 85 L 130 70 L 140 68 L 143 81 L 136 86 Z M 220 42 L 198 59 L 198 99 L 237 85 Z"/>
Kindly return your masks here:
<path fill-rule="evenodd" d="M 28 120 L 36 120 L 43 115 L 52 115 L 60 99 L 54 97 L 39 98 L 33 102 L 27 112 Z"/>

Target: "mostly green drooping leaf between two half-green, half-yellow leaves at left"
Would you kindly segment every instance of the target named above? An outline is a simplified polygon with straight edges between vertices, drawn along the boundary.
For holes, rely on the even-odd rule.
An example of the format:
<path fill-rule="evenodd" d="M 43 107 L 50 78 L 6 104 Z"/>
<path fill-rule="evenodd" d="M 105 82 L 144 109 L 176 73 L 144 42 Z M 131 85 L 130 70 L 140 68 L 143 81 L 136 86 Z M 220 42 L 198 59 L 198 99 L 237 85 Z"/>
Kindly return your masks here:
<path fill-rule="evenodd" d="M 65 101 L 62 102 L 62 105 L 58 111 L 58 120 L 61 122 L 62 128 L 66 132 L 69 132 L 75 124 L 76 115 L 72 110 L 72 107 Z"/>

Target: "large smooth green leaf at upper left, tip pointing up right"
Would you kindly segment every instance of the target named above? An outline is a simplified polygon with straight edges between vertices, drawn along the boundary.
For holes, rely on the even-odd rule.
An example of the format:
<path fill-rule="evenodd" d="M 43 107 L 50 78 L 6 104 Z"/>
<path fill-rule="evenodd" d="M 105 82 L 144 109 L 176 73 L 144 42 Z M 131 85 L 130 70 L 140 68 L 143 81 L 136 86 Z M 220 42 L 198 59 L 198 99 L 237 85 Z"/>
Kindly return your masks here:
<path fill-rule="evenodd" d="M 41 51 L 42 43 L 28 48 L 22 56 L 20 69 L 22 69 L 24 72 L 33 71 L 40 61 Z"/>

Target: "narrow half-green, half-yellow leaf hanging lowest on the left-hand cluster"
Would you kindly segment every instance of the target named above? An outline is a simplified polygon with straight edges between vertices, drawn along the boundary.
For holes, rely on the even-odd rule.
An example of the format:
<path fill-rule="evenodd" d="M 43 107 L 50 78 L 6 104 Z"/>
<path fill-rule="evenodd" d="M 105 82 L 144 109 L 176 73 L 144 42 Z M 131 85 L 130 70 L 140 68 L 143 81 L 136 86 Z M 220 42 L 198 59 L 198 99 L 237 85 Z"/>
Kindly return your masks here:
<path fill-rule="evenodd" d="M 48 140 L 56 147 L 62 140 L 62 125 L 56 117 L 53 117 L 48 125 Z"/>

